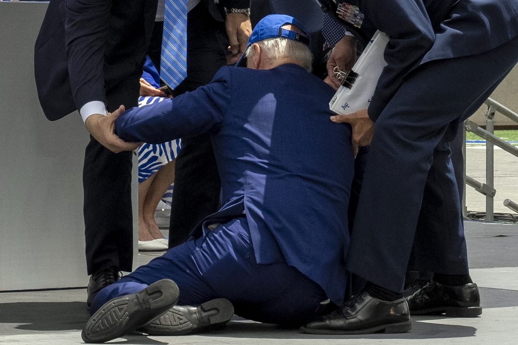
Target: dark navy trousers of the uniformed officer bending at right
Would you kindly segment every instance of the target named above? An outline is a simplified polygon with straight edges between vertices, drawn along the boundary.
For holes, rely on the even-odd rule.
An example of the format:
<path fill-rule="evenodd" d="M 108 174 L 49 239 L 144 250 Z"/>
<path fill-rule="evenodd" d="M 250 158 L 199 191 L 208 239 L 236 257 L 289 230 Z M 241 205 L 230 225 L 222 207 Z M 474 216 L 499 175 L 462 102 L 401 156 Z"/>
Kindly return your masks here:
<path fill-rule="evenodd" d="M 402 292 L 412 246 L 420 271 L 468 274 L 450 142 L 518 61 L 518 38 L 432 61 L 406 77 L 375 123 L 349 270 Z"/>

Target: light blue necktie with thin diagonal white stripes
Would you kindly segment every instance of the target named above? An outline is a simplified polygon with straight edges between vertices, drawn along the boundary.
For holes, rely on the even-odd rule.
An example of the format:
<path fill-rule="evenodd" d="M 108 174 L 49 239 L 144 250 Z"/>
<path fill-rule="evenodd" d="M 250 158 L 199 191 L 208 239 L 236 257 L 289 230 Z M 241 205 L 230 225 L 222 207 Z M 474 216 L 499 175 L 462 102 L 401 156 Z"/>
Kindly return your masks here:
<path fill-rule="evenodd" d="M 187 76 L 186 0 L 165 0 L 160 77 L 171 89 Z"/>

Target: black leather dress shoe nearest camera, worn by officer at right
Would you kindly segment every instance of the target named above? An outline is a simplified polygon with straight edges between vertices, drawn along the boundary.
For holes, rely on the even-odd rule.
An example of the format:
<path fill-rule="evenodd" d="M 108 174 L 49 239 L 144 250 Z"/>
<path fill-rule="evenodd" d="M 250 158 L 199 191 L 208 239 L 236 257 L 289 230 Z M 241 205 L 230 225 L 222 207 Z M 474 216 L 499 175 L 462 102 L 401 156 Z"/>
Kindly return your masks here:
<path fill-rule="evenodd" d="M 412 328 L 404 298 L 383 301 L 367 292 L 353 296 L 340 309 L 309 322 L 300 330 L 311 334 L 403 333 Z"/>

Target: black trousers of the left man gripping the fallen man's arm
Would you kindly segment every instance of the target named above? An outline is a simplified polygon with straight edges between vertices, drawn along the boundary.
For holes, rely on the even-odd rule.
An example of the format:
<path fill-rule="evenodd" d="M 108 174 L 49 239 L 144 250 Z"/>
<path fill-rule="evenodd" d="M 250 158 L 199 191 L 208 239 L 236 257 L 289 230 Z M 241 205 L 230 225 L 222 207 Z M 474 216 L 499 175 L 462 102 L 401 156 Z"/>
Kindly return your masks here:
<path fill-rule="evenodd" d="M 141 71 L 106 90 L 108 111 L 138 105 Z M 88 275 L 114 266 L 132 271 L 132 152 L 113 153 L 90 136 L 84 154 L 84 235 Z"/>

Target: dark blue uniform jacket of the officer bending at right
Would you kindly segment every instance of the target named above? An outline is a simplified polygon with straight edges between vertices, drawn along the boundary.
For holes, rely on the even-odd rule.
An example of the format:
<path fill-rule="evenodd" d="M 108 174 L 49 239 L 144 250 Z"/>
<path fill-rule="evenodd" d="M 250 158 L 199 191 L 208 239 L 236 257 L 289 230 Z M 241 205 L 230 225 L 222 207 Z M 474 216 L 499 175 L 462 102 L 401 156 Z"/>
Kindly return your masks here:
<path fill-rule="evenodd" d="M 352 4 L 364 13 L 364 22 L 360 28 L 355 28 L 356 31 L 372 35 L 378 29 L 390 36 L 385 51 L 388 66 L 383 70 L 369 106 L 372 120 L 378 118 L 405 76 L 419 65 L 479 54 L 518 36 L 517 0 L 356 0 L 338 3 Z"/>

